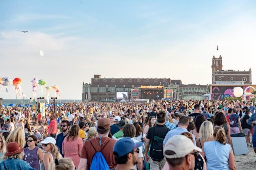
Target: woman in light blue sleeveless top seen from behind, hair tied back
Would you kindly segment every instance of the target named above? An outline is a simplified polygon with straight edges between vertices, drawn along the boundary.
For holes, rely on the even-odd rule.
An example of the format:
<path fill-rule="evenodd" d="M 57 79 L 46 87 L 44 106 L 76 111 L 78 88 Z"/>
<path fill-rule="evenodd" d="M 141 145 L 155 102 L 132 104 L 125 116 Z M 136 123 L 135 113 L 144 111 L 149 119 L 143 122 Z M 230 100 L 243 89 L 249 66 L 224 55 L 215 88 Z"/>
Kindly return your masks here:
<path fill-rule="evenodd" d="M 202 148 L 202 155 L 207 160 L 207 170 L 235 170 L 235 158 L 231 145 L 226 143 L 225 130 L 216 126 L 213 136 L 215 140 L 205 142 Z"/>

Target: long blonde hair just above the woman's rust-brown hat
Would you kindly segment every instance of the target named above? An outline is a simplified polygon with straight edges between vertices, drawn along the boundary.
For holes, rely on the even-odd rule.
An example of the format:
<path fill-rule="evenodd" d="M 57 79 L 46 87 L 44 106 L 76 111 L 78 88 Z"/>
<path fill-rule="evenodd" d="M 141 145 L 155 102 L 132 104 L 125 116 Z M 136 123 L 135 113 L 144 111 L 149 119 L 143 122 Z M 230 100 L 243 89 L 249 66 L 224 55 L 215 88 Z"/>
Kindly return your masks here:
<path fill-rule="evenodd" d="M 7 137 L 6 145 L 10 142 L 17 142 L 20 148 L 26 144 L 25 132 L 21 127 L 15 128 Z"/>

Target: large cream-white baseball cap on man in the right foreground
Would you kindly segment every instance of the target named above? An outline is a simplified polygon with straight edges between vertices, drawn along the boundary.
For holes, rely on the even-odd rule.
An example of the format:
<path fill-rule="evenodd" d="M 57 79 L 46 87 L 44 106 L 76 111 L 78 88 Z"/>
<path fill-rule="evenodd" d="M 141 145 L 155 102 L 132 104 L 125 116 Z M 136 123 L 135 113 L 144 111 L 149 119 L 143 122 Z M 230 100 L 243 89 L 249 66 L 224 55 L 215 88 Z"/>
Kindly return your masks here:
<path fill-rule="evenodd" d="M 172 155 L 166 155 L 165 151 L 171 150 L 175 152 Z M 202 149 L 195 146 L 191 139 L 184 135 L 175 135 L 169 138 L 164 146 L 164 156 L 169 159 L 182 158 L 192 153 L 194 150 L 202 152 Z"/>

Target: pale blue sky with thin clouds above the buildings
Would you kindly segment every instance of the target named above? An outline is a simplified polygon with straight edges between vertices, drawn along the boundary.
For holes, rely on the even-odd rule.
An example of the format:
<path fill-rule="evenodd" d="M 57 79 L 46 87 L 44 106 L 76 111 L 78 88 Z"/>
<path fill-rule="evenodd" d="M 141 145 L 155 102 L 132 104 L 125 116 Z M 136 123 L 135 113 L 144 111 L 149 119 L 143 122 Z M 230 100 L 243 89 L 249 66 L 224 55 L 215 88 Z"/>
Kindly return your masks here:
<path fill-rule="evenodd" d="M 21 78 L 28 97 L 30 81 L 44 79 L 62 99 L 82 99 L 94 74 L 210 84 L 218 45 L 223 69 L 251 67 L 255 84 L 255 7 L 253 0 L 1 0 L 0 77 Z"/>

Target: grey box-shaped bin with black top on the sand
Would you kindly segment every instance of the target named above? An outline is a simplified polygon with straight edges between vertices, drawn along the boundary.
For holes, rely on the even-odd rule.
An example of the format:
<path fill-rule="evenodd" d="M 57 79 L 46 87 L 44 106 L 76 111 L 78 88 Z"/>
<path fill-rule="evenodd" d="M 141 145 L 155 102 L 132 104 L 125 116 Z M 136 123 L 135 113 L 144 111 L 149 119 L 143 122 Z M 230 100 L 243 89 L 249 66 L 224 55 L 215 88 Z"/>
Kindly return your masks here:
<path fill-rule="evenodd" d="M 243 155 L 248 153 L 245 133 L 234 133 L 231 134 L 231 147 L 233 149 L 234 155 Z"/>

